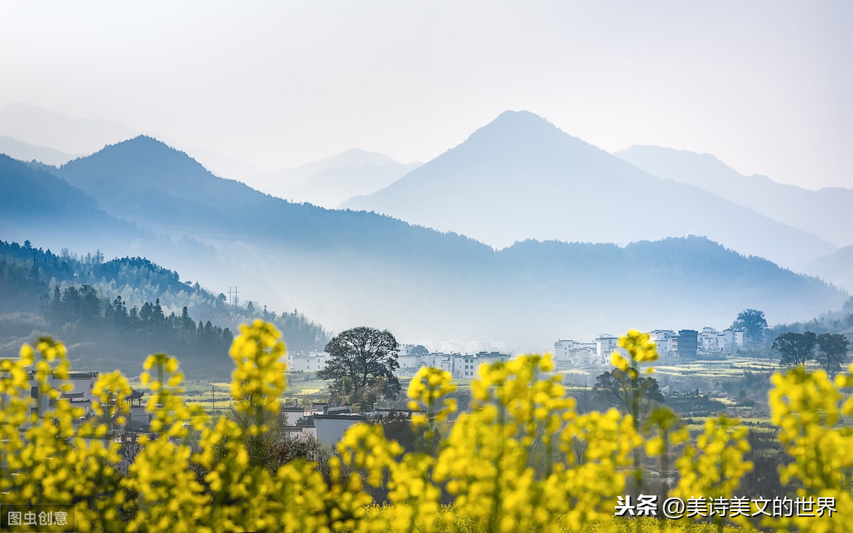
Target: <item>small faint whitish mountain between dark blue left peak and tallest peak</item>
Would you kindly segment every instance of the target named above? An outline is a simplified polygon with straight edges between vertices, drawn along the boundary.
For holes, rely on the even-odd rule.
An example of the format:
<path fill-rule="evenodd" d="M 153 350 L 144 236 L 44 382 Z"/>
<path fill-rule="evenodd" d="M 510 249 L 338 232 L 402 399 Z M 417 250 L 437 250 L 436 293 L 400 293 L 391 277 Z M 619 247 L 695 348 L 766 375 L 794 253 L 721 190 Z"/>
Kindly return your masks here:
<path fill-rule="evenodd" d="M 385 154 L 360 149 L 292 169 L 259 174 L 245 180 L 264 193 L 294 202 L 334 209 L 344 200 L 390 185 L 420 163 L 403 165 Z"/>

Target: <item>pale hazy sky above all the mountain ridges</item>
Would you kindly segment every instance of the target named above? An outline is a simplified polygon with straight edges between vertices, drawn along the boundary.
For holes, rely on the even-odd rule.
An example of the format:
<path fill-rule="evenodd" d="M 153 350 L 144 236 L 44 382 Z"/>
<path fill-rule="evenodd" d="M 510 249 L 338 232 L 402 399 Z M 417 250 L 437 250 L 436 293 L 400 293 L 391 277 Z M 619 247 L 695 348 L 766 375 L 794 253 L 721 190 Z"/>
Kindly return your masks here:
<path fill-rule="evenodd" d="M 266 170 L 427 161 L 507 109 L 853 188 L 853 3 L 0 2 L 0 107 Z M 192 155 L 192 154 L 191 154 Z"/>

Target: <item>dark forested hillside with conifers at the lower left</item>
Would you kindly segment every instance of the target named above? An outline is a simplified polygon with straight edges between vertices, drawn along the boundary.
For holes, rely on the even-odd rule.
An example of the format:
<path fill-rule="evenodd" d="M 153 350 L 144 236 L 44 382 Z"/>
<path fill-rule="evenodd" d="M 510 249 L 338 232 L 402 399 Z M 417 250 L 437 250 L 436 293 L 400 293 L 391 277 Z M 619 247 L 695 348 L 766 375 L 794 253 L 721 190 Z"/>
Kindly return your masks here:
<path fill-rule="evenodd" d="M 191 379 L 224 379 L 241 322 L 276 323 L 291 351 L 322 349 L 326 341 L 322 327 L 296 310 L 278 315 L 225 299 L 145 258 L 105 262 L 100 252 L 56 255 L 29 241 L 0 241 L 0 355 L 47 333 L 68 343 L 75 368 L 136 374 L 149 353 L 167 351 L 182 356 Z"/>

